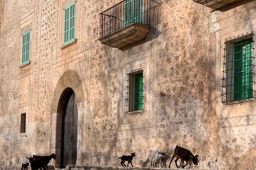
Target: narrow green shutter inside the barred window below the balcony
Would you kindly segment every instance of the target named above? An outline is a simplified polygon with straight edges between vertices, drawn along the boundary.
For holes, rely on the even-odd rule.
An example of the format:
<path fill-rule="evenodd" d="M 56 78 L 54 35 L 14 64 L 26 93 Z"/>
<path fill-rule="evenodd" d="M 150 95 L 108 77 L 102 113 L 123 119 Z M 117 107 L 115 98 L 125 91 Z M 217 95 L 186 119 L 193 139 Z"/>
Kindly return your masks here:
<path fill-rule="evenodd" d="M 136 74 L 135 77 L 135 111 L 143 109 L 143 73 Z"/>

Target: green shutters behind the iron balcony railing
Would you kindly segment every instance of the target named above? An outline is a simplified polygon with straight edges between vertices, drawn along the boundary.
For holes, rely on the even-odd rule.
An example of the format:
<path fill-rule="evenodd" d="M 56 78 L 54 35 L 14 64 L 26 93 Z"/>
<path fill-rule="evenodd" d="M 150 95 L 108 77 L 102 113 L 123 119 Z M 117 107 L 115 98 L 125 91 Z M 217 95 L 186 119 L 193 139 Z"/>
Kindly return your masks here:
<path fill-rule="evenodd" d="M 125 0 L 124 25 L 141 23 L 141 0 Z"/>

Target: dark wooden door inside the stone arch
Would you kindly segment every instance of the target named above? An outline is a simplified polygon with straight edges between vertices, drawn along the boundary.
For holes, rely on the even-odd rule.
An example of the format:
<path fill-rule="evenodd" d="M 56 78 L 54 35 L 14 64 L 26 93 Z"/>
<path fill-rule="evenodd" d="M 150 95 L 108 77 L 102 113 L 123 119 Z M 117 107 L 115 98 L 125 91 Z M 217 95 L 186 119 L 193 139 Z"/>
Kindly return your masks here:
<path fill-rule="evenodd" d="M 66 98 L 61 132 L 61 167 L 76 164 L 77 155 L 77 106 L 76 96 L 71 90 Z"/>

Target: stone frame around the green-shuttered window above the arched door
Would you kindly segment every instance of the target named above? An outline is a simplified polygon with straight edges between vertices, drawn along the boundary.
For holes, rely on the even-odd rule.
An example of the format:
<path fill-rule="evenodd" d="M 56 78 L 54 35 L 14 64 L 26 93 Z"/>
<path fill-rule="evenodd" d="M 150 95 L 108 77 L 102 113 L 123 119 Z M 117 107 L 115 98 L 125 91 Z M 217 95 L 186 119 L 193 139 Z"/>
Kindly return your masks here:
<path fill-rule="evenodd" d="M 64 23 L 65 23 L 65 8 L 67 8 L 69 5 L 75 3 L 75 39 L 71 40 L 69 43 L 64 44 Z M 60 48 L 65 48 L 67 46 L 73 45 L 77 42 L 78 38 L 78 16 L 79 16 L 79 11 L 78 11 L 78 0 L 66 0 L 61 3 L 61 25 L 60 25 Z"/>

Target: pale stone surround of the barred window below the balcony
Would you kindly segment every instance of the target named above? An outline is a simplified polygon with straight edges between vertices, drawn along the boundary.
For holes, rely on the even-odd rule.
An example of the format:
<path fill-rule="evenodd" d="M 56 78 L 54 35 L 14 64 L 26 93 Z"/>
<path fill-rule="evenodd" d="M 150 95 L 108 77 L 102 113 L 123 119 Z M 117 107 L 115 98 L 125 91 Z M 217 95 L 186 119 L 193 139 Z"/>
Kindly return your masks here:
<path fill-rule="evenodd" d="M 119 92 L 119 131 L 153 128 L 154 55 L 151 49 L 121 59 Z M 125 113 L 126 73 L 131 69 L 143 69 L 143 114 Z"/>

